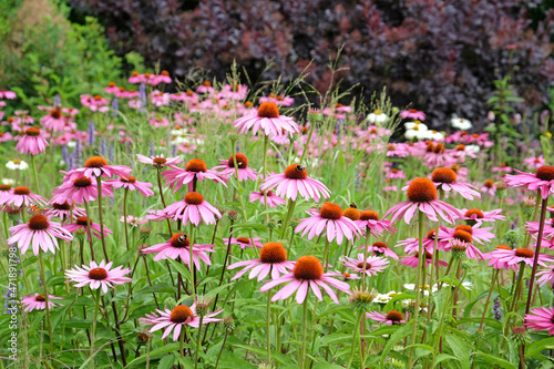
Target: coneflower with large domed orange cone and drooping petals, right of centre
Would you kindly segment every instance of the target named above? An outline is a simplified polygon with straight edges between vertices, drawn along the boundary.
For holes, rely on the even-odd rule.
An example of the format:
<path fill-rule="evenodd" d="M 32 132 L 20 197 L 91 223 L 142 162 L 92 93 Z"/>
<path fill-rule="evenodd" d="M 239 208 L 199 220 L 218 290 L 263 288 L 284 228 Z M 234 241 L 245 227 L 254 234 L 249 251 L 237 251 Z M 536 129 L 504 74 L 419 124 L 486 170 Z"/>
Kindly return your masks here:
<path fill-rule="evenodd" d="M 403 216 L 404 222 L 410 224 L 416 211 L 423 212 L 431 221 L 438 222 L 437 215 L 440 215 L 448 223 L 454 223 L 460 218 L 459 209 L 450 204 L 437 199 L 438 192 L 434 184 L 429 178 L 416 178 L 408 186 L 408 201 L 392 206 L 384 217 L 392 214 L 391 222 Z"/>

